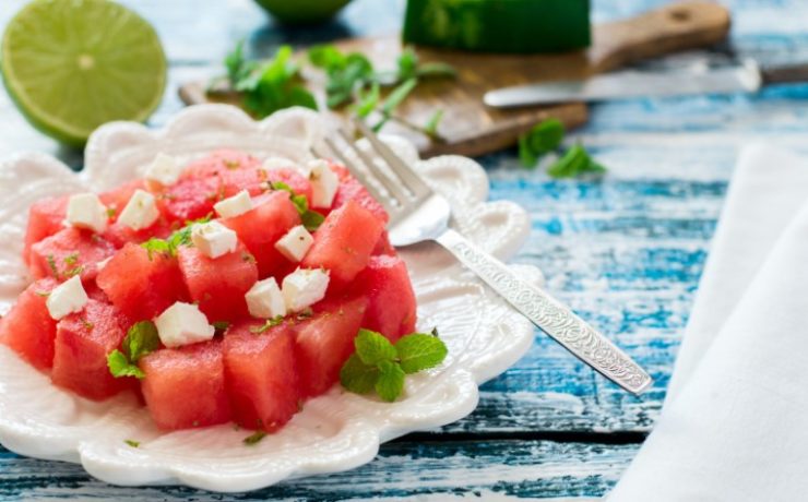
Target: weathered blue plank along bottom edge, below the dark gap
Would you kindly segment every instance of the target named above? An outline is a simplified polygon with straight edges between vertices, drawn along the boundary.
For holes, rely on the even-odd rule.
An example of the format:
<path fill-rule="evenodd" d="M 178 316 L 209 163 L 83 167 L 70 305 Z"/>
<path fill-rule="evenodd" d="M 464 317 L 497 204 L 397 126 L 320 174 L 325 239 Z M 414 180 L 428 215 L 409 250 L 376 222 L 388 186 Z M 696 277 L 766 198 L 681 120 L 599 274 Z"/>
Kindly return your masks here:
<path fill-rule="evenodd" d="M 506 440 L 395 442 L 370 464 L 274 488 L 215 495 L 183 487 L 130 489 L 90 478 L 78 465 L 22 458 L 0 449 L 0 501 L 82 500 L 515 500 L 599 497 L 619 478 L 634 444 Z"/>

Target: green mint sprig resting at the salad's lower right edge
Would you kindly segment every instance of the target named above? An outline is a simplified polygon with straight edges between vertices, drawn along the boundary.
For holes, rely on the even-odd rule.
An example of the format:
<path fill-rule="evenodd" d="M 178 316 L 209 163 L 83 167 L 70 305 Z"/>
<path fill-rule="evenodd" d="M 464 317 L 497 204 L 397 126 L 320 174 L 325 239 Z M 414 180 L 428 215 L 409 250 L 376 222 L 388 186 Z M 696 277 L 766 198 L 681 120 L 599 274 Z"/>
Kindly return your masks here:
<path fill-rule="evenodd" d="M 447 357 L 447 346 L 431 334 L 413 333 L 395 345 L 380 333 L 359 330 L 352 355 L 340 371 L 340 382 L 350 392 L 368 394 L 371 391 L 383 401 L 394 402 L 404 390 L 407 374 L 433 368 Z"/>

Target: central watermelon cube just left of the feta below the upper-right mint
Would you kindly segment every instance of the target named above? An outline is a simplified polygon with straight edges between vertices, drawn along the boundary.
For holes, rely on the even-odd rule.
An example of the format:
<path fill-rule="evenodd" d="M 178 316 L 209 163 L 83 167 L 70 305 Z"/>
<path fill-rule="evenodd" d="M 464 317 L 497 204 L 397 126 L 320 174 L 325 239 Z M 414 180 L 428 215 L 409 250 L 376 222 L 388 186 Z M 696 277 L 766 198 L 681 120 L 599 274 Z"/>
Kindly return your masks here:
<path fill-rule="evenodd" d="M 300 215 L 288 192 L 274 191 L 253 200 L 254 207 L 245 214 L 222 220 L 231 228 L 256 256 L 261 277 L 268 277 L 288 261 L 275 249 L 275 242 L 289 228 L 300 224 Z"/>

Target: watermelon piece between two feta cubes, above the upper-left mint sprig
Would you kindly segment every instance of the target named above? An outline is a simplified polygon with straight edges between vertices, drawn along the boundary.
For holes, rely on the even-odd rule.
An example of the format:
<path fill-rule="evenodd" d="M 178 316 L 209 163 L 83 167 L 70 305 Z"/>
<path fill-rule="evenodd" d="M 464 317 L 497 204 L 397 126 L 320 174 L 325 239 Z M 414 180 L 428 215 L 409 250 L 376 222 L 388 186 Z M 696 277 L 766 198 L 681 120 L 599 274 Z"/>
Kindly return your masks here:
<path fill-rule="evenodd" d="M 224 199 L 223 188 L 219 177 L 179 180 L 157 194 L 157 207 L 169 223 L 185 225 L 212 214 L 213 205 Z"/>

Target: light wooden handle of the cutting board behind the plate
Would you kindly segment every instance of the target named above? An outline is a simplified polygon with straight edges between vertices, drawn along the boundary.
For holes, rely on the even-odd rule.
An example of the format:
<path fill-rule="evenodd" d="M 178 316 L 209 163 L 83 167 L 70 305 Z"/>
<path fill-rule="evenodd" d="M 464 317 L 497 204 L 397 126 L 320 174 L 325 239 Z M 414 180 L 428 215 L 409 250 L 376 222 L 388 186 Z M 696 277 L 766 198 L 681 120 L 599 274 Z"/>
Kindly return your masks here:
<path fill-rule="evenodd" d="M 717 44 L 729 33 L 729 11 L 706 1 L 677 2 L 593 29 L 589 58 L 593 72 L 598 73 Z"/>

